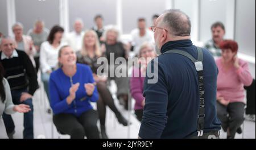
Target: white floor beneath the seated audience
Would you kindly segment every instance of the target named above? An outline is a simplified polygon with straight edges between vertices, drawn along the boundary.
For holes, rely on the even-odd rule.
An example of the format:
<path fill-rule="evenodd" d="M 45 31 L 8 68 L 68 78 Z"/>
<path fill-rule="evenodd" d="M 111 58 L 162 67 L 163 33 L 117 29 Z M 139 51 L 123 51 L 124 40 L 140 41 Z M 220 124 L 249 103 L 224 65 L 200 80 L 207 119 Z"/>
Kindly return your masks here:
<path fill-rule="evenodd" d="M 112 92 L 115 92 L 114 84 L 111 87 Z M 134 112 L 128 112 L 121 105 L 119 105 L 117 99 L 115 99 L 115 104 L 117 108 L 121 111 L 121 113 L 125 116 L 125 118 L 130 118 L 130 122 L 132 123 L 128 127 L 122 126 L 119 124 L 113 112 L 107 107 L 106 113 L 106 131 L 110 139 L 136 139 L 138 138 L 138 132 L 140 123 L 134 116 Z M 47 113 L 47 109 L 49 107 L 48 100 L 42 89 L 36 91 L 33 99 L 34 103 L 34 135 L 35 138 L 61 138 L 67 139 L 68 135 L 59 135 L 57 133 L 55 126 L 52 123 L 52 115 Z M 134 101 L 133 101 L 134 104 Z M 96 107 L 93 104 L 94 108 Z M 133 105 L 132 105 L 133 106 Z M 16 113 L 13 116 L 15 122 L 15 139 L 22 138 L 23 131 L 23 115 Z M 98 126 L 100 126 L 98 122 Z M 244 130 L 243 130 L 243 138 L 246 139 L 255 139 L 255 122 L 245 121 Z M 60 136 L 60 137 L 59 137 Z M 226 138 L 226 133 L 221 131 L 221 138 Z M 242 135 L 236 135 L 236 138 L 241 139 Z"/>

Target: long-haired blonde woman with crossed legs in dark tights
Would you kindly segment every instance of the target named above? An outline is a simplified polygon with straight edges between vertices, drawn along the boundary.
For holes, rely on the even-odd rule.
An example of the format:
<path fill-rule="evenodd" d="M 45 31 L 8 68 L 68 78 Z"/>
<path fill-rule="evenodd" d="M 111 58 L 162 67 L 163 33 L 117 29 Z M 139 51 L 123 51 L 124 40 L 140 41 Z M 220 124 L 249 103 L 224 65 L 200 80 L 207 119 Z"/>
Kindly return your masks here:
<path fill-rule="evenodd" d="M 82 49 L 77 52 L 77 62 L 81 64 L 89 65 L 93 71 L 93 78 L 97 83 L 97 89 L 99 93 L 99 99 L 97 101 L 97 110 L 100 117 L 101 123 L 101 136 L 103 139 L 107 139 L 105 130 L 105 119 L 106 119 L 106 105 L 115 113 L 119 123 L 123 126 L 127 126 L 127 120 L 123 118 L 121 113 L 117 110 L 114 104 L 114 99 L 110 94 L 110 91 L 106 85 L 108 78 L 98 77 L 97 69 L 100 65 L 97 64 L 97 59 L 102 56 L 100 43 L 95 31 L 89 30 L 85 32 L 82 40 Z"/>

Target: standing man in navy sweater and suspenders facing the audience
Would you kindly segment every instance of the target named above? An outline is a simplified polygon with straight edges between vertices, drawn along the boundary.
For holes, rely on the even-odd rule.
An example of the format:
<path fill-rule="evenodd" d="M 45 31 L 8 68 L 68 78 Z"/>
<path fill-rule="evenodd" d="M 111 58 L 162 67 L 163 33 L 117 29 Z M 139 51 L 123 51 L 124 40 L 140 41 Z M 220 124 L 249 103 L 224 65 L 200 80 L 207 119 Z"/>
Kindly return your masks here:
<path fill-rule="evenodd" d="M 192 44 L 188 16 L 180 10 L 167 11 L 152 31 L 162 55 L 154 74 L 158 81 L 150 84 L 147 75 L 144 80 L 146 100 L 139 138 L 219 138 L 217 66 L 209 51 Z M 194 63 L 186 54 L 199 61 Z M 149 65 L 154 69 L 154 61 Z"/>

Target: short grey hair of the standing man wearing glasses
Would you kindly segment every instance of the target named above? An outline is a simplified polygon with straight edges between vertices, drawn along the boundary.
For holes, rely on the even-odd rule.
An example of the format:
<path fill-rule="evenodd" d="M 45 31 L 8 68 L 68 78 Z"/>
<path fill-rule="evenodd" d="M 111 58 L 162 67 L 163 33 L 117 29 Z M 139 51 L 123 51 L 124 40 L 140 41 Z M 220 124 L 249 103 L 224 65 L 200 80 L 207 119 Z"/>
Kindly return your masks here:
<path fill-rule="evenodd" d="M 175 36 L 190 36 L 191 21 L 187 14 L 177 9 L 168 10 L 162 22 Z"/>

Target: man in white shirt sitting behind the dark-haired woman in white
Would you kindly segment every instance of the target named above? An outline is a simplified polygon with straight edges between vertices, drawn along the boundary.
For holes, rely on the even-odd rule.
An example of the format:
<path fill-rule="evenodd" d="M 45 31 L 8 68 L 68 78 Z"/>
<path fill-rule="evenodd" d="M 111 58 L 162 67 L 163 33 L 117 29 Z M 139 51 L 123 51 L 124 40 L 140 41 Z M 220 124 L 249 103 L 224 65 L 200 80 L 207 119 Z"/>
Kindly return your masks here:
<path fill-rule="evenodd" d="M 70 45 L 75 52 L 80 51 L 82 48 L 82 38 L 84 37 L 84 22 L 82 19 L 76 19 L 74 23 L 74 31 L 67 34 L 64 41 Z"/>

